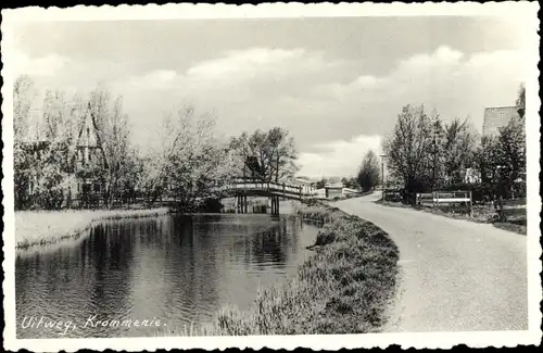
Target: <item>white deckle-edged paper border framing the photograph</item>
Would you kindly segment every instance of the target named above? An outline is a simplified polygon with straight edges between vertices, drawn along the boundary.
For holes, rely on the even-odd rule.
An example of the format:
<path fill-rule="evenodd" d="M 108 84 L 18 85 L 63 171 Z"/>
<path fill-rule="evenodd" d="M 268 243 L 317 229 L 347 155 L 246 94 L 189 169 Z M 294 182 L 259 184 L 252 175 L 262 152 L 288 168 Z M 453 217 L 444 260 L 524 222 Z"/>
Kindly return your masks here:
<path fill-rule="evenodd" d="M 541 272 L 541 245 L 539 243 L 541 199 L 539 198 L 539 20 L 536 2 L 502 2 L 502 3 L 417 3 L 405 4 L 301 4 L 276 3 L 260 5 L 211 5 L 211 4 L 166 4 L 156 5 L 119 5 L 119 7 L 75 7 L 71 9 L 25 8 L 2 10 L 1 29 L 2 60 L 4 67 L 2 77 L 2 139 L 4 143 L 2 171 L 2 190 L 4 192 L 4 349 L 30 351 L 76 351 L 78 349 L 115 349 L 127 351 L 155 349 L 190 349 L 205 350 L 226 348 L 252 348 L 292 350 L 299 346 L 312 349 L 338 350 L 341 348 L 387 348 L 400 344 L 402 348 L 450 349 L 456 344 L 467 344 L 472 348 L 483 346 L 516 346 L 517 344 L 538 344 L 541 341 L 541 312 L 539 303 L 542 299 L 542 288 L 539 274 Z M 9 71 L 13 62 L 9 56 L 11 45 L 11 25 L 14 22 L 30 21 L 105 21 L 105 20 L 173 20 L 173 18 L 264 18 L 264 17 L 317 17 L 317 16 L 415 16 L 415 15 L 483 15 L 483 16 L 522 16 L 526 18 L 527 37 L 533 48 L 527 56 L 527 143 L 528 149 L 528 295 L 529 295 L 529 329 L 526 331 L 492 331 L 492 332 L 430 332 L 430 333 L 368 333 L 368 335 L 331 335 L 331 336 L 280 336 L 280 337 L 192 337 L 192 338 L 130 338 L 130 339 L 48 339 L 17 340 L 15 338 L 15 280 L 14 280 L 14 211 L 13 211 L 13 130 L 12 121 L 12 85 L 13 77 Z"/>

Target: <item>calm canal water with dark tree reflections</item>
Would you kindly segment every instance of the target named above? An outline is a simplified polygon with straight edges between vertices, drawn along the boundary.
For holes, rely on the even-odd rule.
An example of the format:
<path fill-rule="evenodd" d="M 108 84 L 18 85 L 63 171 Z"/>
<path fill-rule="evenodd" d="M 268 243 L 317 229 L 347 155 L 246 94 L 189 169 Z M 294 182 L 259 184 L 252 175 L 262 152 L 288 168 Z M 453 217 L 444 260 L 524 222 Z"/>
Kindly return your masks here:
<path fill-rule="evenodd" d="M 316 234 L 287 215 L 105 222 L 74 243 L 17 255 L 17 338 L 195 331 L 225 305 L 245 310 L 260 288 L 293 276 Z"/>

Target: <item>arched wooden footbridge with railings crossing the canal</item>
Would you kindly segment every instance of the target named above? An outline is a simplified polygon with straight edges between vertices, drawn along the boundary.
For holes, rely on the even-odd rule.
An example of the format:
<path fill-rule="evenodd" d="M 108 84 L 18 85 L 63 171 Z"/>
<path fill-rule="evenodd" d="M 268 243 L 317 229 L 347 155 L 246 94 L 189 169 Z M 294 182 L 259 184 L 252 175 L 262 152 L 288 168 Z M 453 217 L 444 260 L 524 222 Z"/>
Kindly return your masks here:
<path fill-rule="evenodd" d="M 236 179 L 218 188 L 225 197 L 235 197 L 238 213 L 248 213 L 248 197 L 267 197 L 270 199 L 270 212 L 279 214 L 279 200 L 298 200 L 314 198 L 314 188 L 289 185 L 285 182 L 262 181 L 252 179 Z"/>

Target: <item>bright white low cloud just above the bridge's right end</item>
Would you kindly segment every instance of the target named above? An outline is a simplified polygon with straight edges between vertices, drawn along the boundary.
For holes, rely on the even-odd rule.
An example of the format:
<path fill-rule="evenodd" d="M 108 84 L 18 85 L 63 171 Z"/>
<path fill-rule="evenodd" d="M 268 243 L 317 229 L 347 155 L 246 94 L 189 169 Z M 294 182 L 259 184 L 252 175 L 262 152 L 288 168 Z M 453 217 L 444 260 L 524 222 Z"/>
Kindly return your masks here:
<path fill-rule="evenodd" d="M 350 140 L 314 144 L 315 152 L 300 154 L 300 175 L 308 177 L 355 175 L 364 155 L 372 150 L 379 154 L 380 136 L 359 135 Z"/>

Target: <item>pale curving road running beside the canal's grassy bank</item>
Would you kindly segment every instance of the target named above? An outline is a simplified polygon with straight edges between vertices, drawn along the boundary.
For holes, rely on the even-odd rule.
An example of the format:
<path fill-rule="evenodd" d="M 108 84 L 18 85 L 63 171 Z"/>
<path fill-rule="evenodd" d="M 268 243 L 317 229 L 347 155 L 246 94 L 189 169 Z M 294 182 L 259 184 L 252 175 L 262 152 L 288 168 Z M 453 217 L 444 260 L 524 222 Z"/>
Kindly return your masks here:
<path fill-rule="evenodd" d="M 372 222 L 400 248 L 402 279 L 384 331 L 528 329 L 526 236 L 378 198 L 333 205 Z"/>

